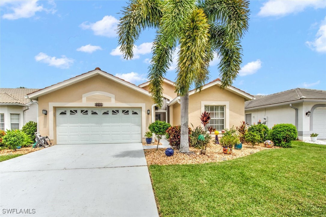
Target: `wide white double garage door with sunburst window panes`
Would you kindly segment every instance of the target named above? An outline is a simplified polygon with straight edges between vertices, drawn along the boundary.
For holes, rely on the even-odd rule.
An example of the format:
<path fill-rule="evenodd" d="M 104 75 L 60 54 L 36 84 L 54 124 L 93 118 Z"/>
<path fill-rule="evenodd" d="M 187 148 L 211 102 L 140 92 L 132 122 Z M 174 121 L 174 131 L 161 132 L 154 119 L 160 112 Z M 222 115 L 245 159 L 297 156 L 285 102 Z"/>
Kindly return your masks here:
<path fill-rule="evenodd" d="M 141 142 L 140 108 L 57 108 L 57 144 Z"/>

